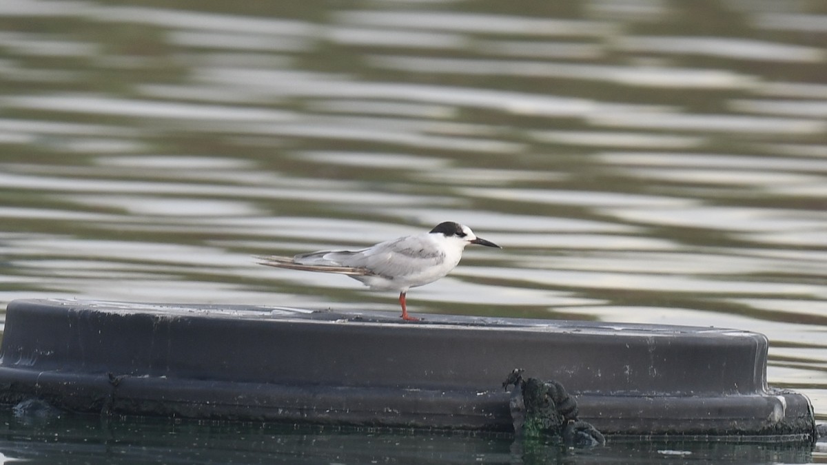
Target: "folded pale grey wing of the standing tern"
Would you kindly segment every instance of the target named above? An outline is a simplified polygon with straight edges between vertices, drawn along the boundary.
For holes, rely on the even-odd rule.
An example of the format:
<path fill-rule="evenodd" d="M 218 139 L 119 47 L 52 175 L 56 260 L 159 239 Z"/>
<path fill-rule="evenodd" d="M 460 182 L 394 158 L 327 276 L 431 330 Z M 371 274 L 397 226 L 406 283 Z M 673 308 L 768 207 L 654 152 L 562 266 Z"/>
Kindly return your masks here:
<path fill-rule="evenodd" d="M 335 258 L 341 260 L 342 265 L 365 269 L 389 279 L 416 274 L 445 260 L 445 253 L 435 249 L 424 235 L 399 237 L 348 253 L 351 255 Z"/>

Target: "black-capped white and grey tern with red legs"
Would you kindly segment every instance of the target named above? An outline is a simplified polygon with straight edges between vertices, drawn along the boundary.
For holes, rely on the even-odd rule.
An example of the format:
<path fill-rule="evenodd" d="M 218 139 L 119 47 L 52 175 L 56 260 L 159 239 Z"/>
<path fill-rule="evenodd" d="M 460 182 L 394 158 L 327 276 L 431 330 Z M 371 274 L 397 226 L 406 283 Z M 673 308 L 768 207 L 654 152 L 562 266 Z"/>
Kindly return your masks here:
<path fill-rule="evenodd" d="M 258 263 L 291 270 L 336 273 L 360 280 L 370 290 L 399 292 L 402 319 L 408 314 L 405 295 L 412 287 L 430 284 L 451 272 L 468 244 L 502 248 L 476 237 L 471 228 L 451 221 L 428 232 L 398 237 L 359 250 L 323 250 L 296 256 L 259 256 Z"/>

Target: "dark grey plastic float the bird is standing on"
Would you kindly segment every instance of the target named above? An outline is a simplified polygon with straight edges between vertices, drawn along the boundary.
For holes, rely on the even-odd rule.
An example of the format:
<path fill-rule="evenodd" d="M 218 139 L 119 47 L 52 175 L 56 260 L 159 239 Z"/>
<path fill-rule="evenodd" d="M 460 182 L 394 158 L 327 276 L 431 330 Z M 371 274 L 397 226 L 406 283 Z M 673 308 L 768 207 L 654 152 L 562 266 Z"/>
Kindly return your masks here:
<path fill-rule="evenodd" d="M 767 338 L 733 329 L 15 300 L 0 355 L 0 401 L 79 412 L 507 432 L 519 367 L 605 434 L 815 439 Z"/>

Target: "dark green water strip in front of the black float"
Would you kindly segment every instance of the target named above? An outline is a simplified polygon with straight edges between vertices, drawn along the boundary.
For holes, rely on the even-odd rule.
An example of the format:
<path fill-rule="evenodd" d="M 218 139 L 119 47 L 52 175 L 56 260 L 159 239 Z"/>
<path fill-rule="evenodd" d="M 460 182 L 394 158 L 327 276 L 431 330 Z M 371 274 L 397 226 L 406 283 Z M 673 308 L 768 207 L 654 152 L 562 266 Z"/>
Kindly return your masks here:
<path fill-rule="evenodd" d="M 72 415 L 2 419 L 0 459 L 25 463 L 748 464 L 814 457 L 796 444 L 613 439 L 583 451 L 490 434 Z"/>

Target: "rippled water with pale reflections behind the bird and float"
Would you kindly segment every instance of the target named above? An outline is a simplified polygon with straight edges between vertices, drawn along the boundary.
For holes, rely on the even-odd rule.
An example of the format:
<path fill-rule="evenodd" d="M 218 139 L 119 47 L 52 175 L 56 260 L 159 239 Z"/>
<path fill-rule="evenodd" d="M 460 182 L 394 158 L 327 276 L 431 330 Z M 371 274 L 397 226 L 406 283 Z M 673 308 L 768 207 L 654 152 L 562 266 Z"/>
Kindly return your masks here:
<path fill-rule="evenodd" d="M 414 314 L 758 331 L 825 420 L 825 43 L 804 0 L 4 0 L 0 300 L 397 312 L 251 256 L 452 220 L 504 250 Z"/>

